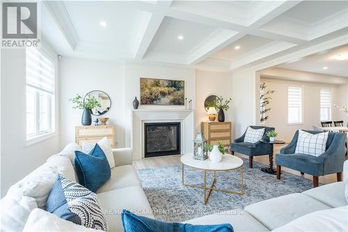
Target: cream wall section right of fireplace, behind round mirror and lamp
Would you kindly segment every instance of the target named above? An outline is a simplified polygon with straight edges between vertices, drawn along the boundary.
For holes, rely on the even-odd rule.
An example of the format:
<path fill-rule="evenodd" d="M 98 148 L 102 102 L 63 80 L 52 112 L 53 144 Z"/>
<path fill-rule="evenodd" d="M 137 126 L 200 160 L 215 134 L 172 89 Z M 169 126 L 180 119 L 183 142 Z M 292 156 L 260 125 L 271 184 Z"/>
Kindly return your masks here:
<path fill-rule="evenodd" d="M 205 98 L 209 95 L 222 96 L 223 99 L 232 98 L 232 73 L 228 72 L 209 72 L 197 70 L 196 72 L 196 133 L 200 132 L 200 123 L 207 121 L 208 116 L 204 108 Z M 225 120 L 232 121 L 232 102 L 230 109 L 225 111 Z M 216 118 L 217 121 L 217 118 Z M 233 127 L 233 125 L 232 125 Z"/>

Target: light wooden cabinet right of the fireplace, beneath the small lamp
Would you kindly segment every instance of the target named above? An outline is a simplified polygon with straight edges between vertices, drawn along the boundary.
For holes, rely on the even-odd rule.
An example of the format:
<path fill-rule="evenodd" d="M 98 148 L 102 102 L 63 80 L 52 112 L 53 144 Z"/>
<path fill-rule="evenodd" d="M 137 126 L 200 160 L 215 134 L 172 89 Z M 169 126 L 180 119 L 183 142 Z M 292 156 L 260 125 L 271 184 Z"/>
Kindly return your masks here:
<path fill-rule="evenodd" d="M 219 141 L 223 146 L 230 147 L 232 142 L 232 123 L 231 122 L 202 122 L 200 125 L 205 139 L 209 145 L 216 145 Z"/>

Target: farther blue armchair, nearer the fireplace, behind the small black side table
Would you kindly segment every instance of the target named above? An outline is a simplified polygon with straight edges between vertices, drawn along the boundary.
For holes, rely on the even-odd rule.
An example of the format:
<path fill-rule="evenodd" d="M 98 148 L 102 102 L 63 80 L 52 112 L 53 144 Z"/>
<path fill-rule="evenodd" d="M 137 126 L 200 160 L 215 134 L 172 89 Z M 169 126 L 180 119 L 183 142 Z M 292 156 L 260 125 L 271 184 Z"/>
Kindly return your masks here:
<path fill-rule="evenodd" d="M 258 126 L 258 125 L 251 125 L 250 126 L 253 129 L 262 129 L 264 128 L 264 134 L 262 139 L 268 139 L 267 132 L 270 130 L 274 130 L 274 127 L 264 127 L 264 126 Z M 249 167 L 253 168 L 253 157 L 258 155 L 269 155 L 269 145 L 262 143 L 260 141 L 256 142 L 255 144 L 244 142 L 245 133 L 242 135 L 242 137 L 239 137 L 238 139 L 235 139 L 234 143 L 231 144 L 231 152 L 232 155 L 235 155 L 236 153 L 241 153 L 243 155 L 248 155 L 249 157 Z"/>

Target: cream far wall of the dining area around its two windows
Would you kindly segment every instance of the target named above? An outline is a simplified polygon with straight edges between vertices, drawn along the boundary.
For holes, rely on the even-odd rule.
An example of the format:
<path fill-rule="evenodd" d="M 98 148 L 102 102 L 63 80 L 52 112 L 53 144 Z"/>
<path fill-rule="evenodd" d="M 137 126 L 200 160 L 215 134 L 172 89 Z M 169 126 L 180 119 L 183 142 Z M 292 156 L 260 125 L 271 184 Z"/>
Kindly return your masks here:
<path fill-rule="evenodd" d="M 310 82 L 292 82 L 281 79 L 262 78 L 267 83 L 267 90 L 276 91 L 271 95 L 271 111 L 267 112 L 269 118 L 265 125 L 276 127 L 278 138 L 290 141 L 298 129 L 312 130 L 312 125 L 320 126 L 320 89 L 330 88 L 332 93 L 332 107 L 337 104 L 338 86 L 332 84 L 318 84 Z M 301 86 L 303 93 L 303 123 L 300 125 L 287 123 L 287 88 Z M 332 120 L 338 120 L 338 111 L 332 108 Z"/>

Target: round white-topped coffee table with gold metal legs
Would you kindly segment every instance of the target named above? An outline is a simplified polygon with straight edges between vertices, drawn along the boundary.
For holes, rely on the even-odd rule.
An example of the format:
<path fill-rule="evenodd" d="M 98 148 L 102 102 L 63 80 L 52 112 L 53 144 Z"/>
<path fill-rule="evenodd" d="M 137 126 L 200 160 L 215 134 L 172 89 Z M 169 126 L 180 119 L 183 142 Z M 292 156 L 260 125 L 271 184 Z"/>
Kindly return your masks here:
<path fill-rule="evenodd" d="M 182 162 L 182 185 L 189 187 L 198 187 L 203 189 L 203 203 L 206 205 L 209 201 L 210 193 L 213 191 L 225 192 L 229 194 L 239 194 L 243 195 L 243 160 L 235 155 L 223 155 L 221 162 L 213 163 L 209 159 L 207 160 L 195 160 L 191 153 L 182 155 L 180 158 Z M 200 185 L 189 185 L 184 183 L 184 166 L 191 167 L 193 169 L 203 170 L 203 186 Z M 216 171 L 233 171 L 235 169 L 241 170 L 241 183 L 240 183 L 240 192 L 230 191 L 230 190 L 219 190 L 214 188 L 216 183 Z M 212 185 L 207 187 L 207 171 L 214 171 L 214 179 L 212 180 Z M 209 192 L 207 193 L 207 190 Z"/>

